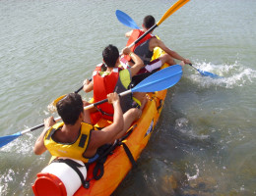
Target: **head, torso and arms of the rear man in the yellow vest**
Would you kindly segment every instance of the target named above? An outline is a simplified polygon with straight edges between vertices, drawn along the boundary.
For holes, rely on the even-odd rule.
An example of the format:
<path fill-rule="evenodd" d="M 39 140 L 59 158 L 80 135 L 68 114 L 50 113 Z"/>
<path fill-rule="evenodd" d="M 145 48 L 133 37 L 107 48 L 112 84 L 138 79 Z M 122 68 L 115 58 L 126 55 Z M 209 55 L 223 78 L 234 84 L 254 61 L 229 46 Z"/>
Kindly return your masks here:
<path fill-rule="evenodd" d="M 123 113 L 117 93 L 107 95 L 112 105 L 113 123 L 97 128 L 88 123 L 89 113 L 84 111 L 81 95 L 70 93 L 57 103 L 57 112 L 63 123 L 55 123 L 53 117 L 44 120 L 44 129 L 33 146 L 35 155 L 46 150 L 55 157 L 67 157 L 91 163 L 96 160 L 97 149 L 124 135 Z"/>

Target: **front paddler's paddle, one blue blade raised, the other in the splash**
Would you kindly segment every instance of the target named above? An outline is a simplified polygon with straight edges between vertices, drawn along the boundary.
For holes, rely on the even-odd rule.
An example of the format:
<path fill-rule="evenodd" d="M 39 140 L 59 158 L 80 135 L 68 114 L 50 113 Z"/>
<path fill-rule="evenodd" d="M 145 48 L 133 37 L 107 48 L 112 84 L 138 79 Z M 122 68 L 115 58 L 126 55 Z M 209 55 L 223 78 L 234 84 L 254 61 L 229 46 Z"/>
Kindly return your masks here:
<path fill-rule="evenodd" d="M 132 28 L 137 28 L 139 29 L 139 26 L 136 25 L 136 23 L 133 21 L 133 19 L 131 17 L 129 17 L 127 14 L 125 14 L 124 12 L 120 11 L 120 10 L 116 10 L 115 15 L 118 19 L 119 22 L 121 22 L 121 24 L 123 25 L 127 25 L 129 27 Z M 212 78 L 222 78 L 222 76 L 215 74 L 215 73 L 209 73 L 206 71 L 202 71 L 200 69 L 195 68 L 192 64 L 189 64 L 192 68 L 196 69 L 199 73 L 201 73 L 203 76 L 210 76 Z"/>

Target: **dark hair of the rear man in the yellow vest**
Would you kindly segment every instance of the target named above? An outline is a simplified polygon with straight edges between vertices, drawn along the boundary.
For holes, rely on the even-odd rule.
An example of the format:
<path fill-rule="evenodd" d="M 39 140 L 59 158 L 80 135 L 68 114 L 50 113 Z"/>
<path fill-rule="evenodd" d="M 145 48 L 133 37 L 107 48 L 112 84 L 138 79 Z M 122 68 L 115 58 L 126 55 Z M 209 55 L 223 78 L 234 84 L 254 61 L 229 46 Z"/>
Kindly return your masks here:
<path fill-rule="evenodd" d="M 81 95 L 68 94 L 57 103 L 57 111 L 64 123 L 74 125 L 78 121 L 79 115 L 84 112 Z"/>

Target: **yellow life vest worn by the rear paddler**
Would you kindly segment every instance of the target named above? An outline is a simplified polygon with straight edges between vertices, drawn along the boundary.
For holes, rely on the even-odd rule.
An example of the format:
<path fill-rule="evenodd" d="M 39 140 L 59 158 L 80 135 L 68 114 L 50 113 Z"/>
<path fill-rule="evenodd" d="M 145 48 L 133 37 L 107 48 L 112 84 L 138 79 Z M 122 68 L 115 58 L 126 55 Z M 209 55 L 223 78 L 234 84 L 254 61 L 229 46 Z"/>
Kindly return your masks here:
<path fill-rule="evenodd" d="M 61 143 L 54 141 L 52 139 L 52 135 L 55 131 L 60 130 L 63 124 L 64 123 L 55 123 L 47 130 L 43 138 L 45 147 L 52 156 L 69 157 L 88 163 L 90 158 L 84 157 L 84 153 L 86 152 L 90 142 L 91 131 L 96 129 L 95 126 L 89 123 L 81 123 L 80 134 L 74 143 Z"/>

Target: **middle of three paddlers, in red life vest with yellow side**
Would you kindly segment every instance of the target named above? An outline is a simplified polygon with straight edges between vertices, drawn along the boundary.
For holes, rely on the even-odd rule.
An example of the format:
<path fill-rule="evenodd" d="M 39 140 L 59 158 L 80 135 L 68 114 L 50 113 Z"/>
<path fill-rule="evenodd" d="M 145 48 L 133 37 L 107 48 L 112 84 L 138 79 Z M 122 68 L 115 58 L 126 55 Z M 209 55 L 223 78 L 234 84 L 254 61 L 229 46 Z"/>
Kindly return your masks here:
<path fill-rule="evenodd" d="M 130 88 L 131 77 L 142 69 L 142 60 L 128 47 L 122 50 L 122 54 L 129 55 L 132 58 L 134 61 L 132 68 L 119 68 L 119 51 L 116 46 L 109 44 L 102 51 L 103 63 L 96 67 L 93 80 L 91 82 L 88 79 L 84 81 L 85 92 L 94 90 L 95 102 L 105 99 L 107 93 L 113 91 L 120 93 Z M 124 126 L 127 129 L 131 123 L 140 118 L 146 102 L 145 95 L 139 92 L 120 98 L 122 112 L 124 113 Z M 104 119 L 112 120 L 113 108 L 111 105 L 101 104 L 97 107 L 97 110 L 100 111 Z"/>

